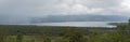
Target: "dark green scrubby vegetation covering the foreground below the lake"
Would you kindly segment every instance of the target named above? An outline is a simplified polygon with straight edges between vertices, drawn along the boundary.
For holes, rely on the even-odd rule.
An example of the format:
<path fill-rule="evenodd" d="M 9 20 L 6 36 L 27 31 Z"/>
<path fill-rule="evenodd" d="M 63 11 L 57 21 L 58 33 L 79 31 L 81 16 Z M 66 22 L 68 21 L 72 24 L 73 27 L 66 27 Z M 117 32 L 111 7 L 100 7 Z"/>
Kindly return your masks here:
<path fill-rule="evenodd" d="M 0 42 L 130 42 L 130 24 L 116 28 L 1 25 Z"/>

